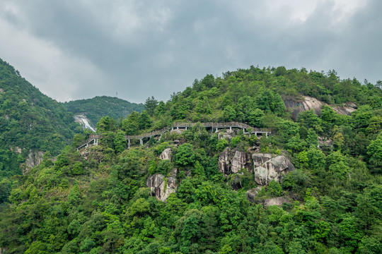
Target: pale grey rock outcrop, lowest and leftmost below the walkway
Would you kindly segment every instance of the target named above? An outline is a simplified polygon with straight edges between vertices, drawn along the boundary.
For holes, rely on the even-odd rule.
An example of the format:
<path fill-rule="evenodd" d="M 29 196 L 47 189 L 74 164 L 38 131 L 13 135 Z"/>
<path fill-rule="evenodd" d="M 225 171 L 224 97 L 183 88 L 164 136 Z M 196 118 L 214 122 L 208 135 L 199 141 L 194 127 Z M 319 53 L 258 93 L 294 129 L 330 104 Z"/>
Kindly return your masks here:
<path fill-rule="evenodd" d="M 167 178 L 163 174 L 154 174 L 147 179 L 146 186 L 154 192 L 158 200 L 166 202 L 170 193 L 176 192 L 178 188 L 175 177 L 176 171 L 176 169 L 173 169 L 173 172 Z"/>

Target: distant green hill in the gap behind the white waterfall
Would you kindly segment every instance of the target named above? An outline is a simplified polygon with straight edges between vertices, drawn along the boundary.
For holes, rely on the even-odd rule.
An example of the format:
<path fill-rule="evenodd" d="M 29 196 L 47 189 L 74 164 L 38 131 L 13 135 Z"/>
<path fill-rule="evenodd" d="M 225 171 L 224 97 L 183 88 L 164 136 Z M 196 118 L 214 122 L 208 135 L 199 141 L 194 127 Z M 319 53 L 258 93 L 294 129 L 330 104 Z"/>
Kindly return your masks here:
<path fill-rule="evenodd" d="M 84 114 L 93 126 L 96 126 L 102 116 L 110 116 L 114 119 L 124 119 L 132 111 L 141 113 L 144 104 L 127 102 L 117 97 L 97 96 L 92 99 L 77 99 L 65 102 L 64 107 L 73 114 Z"/>

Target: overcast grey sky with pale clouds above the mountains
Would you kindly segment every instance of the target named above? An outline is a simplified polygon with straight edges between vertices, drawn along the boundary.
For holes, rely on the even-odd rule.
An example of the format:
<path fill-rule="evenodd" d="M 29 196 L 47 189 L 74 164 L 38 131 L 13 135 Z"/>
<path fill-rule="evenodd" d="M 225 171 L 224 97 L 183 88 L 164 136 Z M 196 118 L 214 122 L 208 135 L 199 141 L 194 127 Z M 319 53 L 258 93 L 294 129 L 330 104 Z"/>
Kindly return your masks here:
<path fill-rule="evenodd" d="M 0 58 L 60 102 L 144 102 L 251 65 L 382 80 L 380 0 L 0 0 Z"/>

